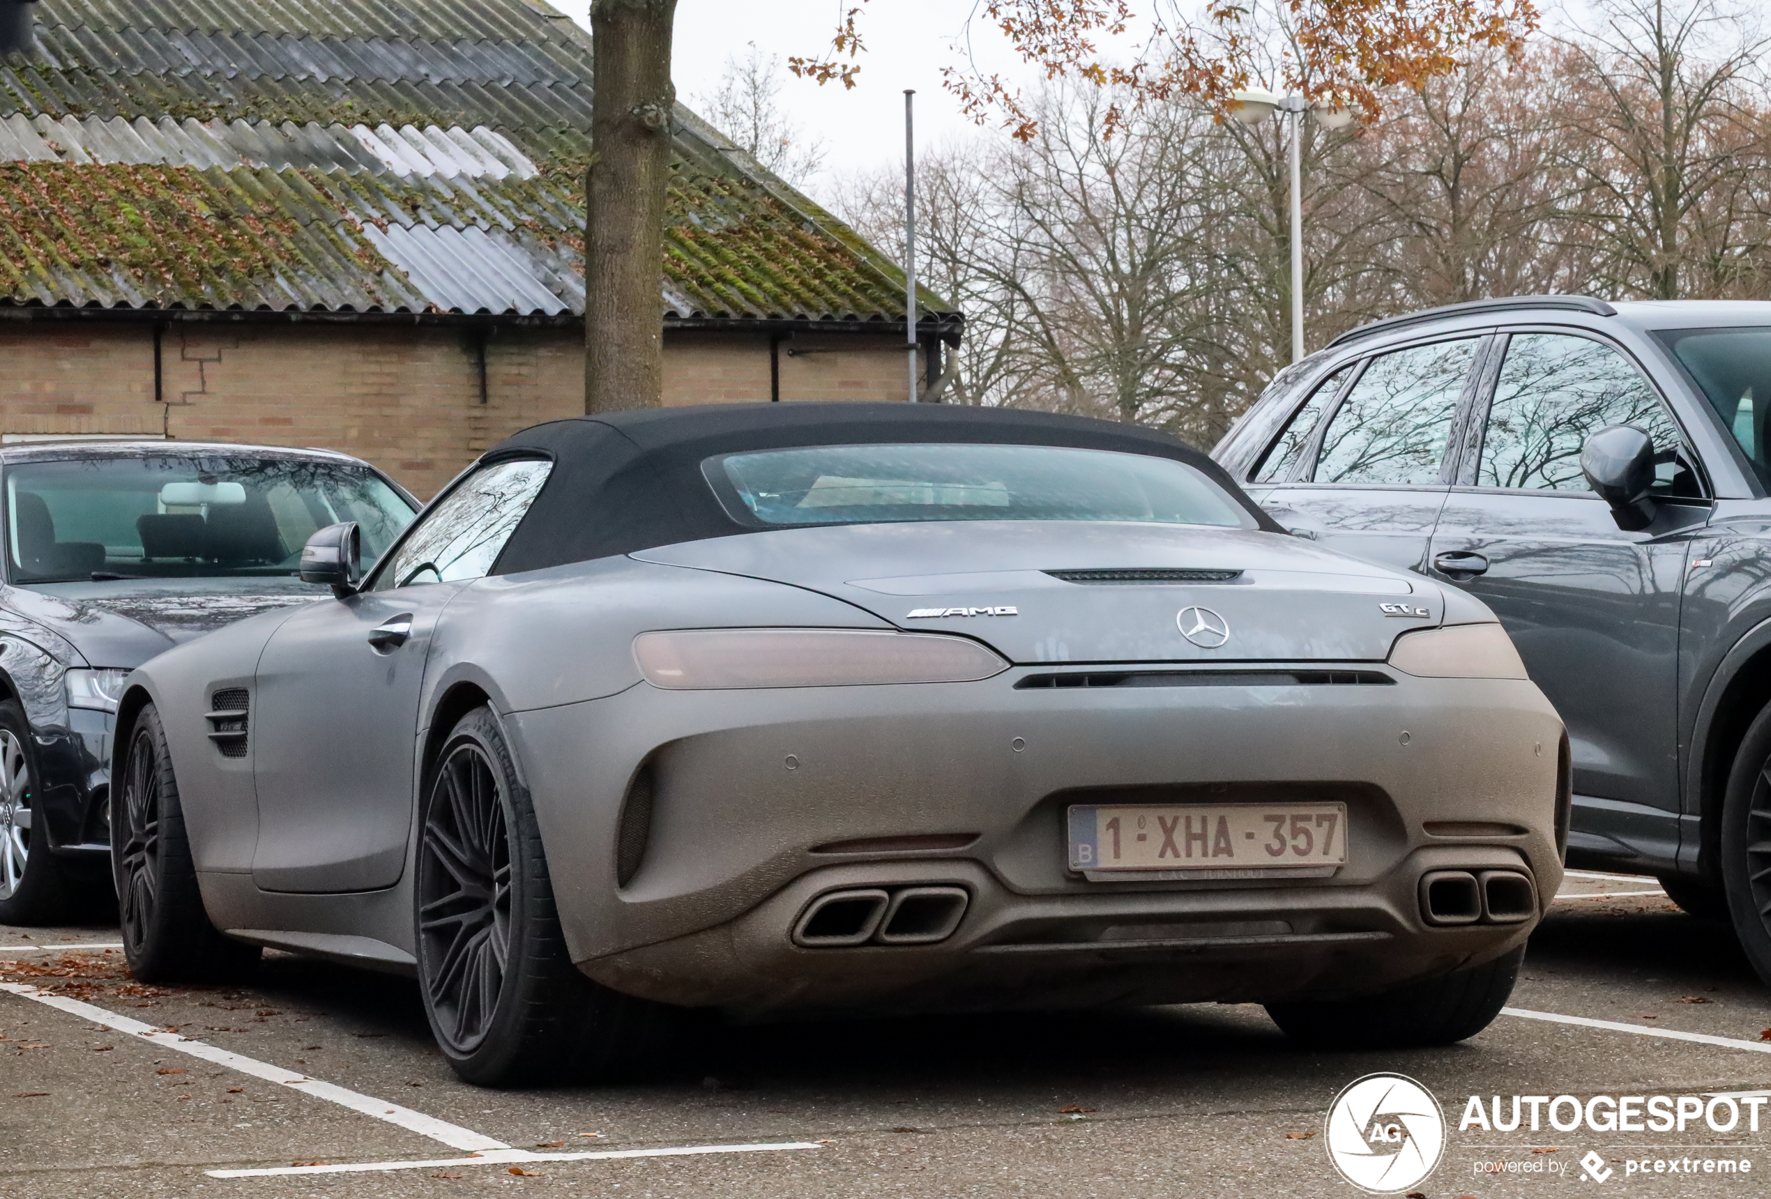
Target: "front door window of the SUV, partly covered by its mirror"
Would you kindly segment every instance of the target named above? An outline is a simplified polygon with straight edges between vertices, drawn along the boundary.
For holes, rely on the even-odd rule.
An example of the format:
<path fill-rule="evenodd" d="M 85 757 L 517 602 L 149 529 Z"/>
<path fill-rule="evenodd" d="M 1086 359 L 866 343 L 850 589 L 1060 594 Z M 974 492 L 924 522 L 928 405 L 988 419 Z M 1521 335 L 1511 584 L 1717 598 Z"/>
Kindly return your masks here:
<path fill-rule="evenodd" d="M 1475 483 L 1590 491 L 1580 450 L 1606 425 L 1635 425 L 1654 441 L 1656 489 L 1695 492 L 1677 462 L 1679 427 L 1628 358 L 1587 336 L 1516 333 L 1495 381 Z"/>

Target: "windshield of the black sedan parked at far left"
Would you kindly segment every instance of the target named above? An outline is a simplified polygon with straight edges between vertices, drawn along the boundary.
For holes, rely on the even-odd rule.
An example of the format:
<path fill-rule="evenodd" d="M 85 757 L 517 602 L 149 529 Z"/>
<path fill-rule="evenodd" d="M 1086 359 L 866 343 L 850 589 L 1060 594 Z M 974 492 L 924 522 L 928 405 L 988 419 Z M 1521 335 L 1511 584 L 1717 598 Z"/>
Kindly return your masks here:
<path fill-rule="evenodd" d="M 12 583 L 289 576 L 326 524 L 356 521 L 372 561 L 411 519 L 381 476 L 344 462 L 156 453 L 5 471 Z"/>

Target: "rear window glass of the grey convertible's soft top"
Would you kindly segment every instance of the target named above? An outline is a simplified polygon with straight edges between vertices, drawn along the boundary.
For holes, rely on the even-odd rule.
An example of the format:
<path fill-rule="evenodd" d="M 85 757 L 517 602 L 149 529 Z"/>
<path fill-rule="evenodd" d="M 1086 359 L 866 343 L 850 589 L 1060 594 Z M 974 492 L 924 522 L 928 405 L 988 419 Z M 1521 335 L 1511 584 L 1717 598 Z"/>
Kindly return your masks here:
<path fill-rule="evenodd" d="M 1256 528 L 1218 483 L 1174 459 L 1017 445 L 806 446 L 708 459 L 744 524 L 1137 521 Z"/>

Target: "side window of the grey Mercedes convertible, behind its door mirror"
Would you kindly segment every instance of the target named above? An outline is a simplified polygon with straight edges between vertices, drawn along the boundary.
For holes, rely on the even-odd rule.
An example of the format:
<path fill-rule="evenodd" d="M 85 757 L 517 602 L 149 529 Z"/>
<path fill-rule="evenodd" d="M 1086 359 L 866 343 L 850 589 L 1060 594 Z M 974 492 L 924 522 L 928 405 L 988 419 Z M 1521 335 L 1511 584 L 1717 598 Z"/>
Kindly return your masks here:
<path fill-rule="evenodd" d="M 464 478 L 418 521 L 372 590 L 483 579 L 551 471 L 553 462 L 519 459 Z"/>

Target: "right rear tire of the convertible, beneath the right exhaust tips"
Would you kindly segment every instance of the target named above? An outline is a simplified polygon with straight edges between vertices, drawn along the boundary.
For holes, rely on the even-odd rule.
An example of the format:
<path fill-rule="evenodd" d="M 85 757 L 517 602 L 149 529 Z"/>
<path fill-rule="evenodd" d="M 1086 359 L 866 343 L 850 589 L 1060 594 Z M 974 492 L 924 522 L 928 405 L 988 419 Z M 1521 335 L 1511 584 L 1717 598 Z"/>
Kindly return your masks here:
<path fill-rule="evenodd" d="M 1316 1048 L 1426 1048 L 1475 1036 L 1500 1015 L 1525 946 L 1493 962 L 1362 999 L 1266 1004 L 1286 1036 Z"/>

